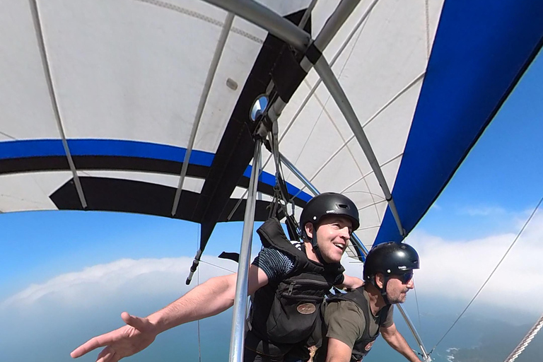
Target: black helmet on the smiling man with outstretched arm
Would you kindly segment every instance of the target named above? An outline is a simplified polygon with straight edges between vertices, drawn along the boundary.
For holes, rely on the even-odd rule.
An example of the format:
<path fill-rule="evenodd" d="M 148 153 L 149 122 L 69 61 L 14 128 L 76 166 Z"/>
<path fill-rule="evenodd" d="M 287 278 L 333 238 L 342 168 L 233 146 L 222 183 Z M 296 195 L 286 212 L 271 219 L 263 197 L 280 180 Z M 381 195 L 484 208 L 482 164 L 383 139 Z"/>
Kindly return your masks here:
<path fill-rule="evenodd" d="M 360 226 L 358 221 L 358 209 L 349 197 L 337 194 L 336 192 L 325 192 L 310 199 L 303 208 L 300 216 L 300 228 L 302 237 L 308 238 L 305 233 L 305 224 L 313 223 L 314 226 L 320 222 L 323 216 L 341 215 L 346 216 L 353 223 L 353 230 Z"/>

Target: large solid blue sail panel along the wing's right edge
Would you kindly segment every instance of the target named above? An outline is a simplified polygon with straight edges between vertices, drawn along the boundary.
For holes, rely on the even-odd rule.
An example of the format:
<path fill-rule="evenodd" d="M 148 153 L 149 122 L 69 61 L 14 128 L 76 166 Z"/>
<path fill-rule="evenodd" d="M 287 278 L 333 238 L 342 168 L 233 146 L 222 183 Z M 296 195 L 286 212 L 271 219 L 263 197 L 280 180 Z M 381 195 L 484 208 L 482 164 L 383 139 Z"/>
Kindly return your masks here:
<path fill-rule="evenodd" d="M 402 226 L 418 223 L 543 42 L 543 1 L 445 1 L 396 178 Z M 387 209 L 375 244 L 401 241 Z"/>

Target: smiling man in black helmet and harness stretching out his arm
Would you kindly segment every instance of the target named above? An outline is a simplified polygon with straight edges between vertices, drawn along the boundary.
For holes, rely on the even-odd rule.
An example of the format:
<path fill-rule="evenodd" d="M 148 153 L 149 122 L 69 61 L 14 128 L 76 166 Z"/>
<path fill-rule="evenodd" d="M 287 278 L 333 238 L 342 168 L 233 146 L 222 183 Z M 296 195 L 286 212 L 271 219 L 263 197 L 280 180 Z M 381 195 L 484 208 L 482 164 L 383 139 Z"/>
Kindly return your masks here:
<path fill-rule="evenodd" d="M 358 226 L 354 203 L 330 192 L 314 197 L 303 209 L 303 243 L 296 245 L 288 240 L 275 218 L 257 230 L 264 248 L 248 271 L 248 293 L 254 296 L 247 318 L 244 361 L 306 359 L 307 346 L 313 343 L 312 334 L 320 322 L 320 306 L 329 289 L 363 284 L 361 279 L 344 275 L 340 264 L 351 233 Z M 90 339 L 71 356 L 76 358 L 102 346 L 105 349 L 97 362 L 116 362 L 136 354 L 160 332 L 230 308 L 236 278 L 236 274 L 230 274 L 209 279 L 148 317 L 124 312 L 121 317 L 127 325 Z"/>

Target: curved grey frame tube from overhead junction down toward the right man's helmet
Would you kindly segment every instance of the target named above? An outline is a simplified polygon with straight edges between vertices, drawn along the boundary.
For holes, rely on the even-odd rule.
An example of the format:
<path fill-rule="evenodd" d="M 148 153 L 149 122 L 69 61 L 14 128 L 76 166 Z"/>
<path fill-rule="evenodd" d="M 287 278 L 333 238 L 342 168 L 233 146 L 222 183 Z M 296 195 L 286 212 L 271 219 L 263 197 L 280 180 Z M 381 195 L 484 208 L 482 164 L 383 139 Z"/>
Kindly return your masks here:
<path fill-rule="evenodd" d="M 402 226 L 402 221 L 400 221 L 399 219 L 396 205 L 394 203 L 394 200 L 392 199 L 392 194 L 390 193 L 390 189 L 388 188 L 387 181 L 385 180 L 385 175 L 383 175 L 383 171 L 381 171 L 378 160 L 375 157 L 375 153 L 373 153 L 373 148 L 371 148 L 370 141 L 368 140 L 368 137 L 366 136 L 362 125 L 360 124 L 360 122 L 358 122 L 358 117 L 356 117 L 356 113 L 354 112 L 351 103 L 349 103 L 349 99 L 344 93 L 343 88 L 341 88 L 339 81 L 337 80 L 334 72 L 332 71 L 332 68 L 329 66 L 325 57 L 320 57 L 318 62 L 315 64 L 315 71 L 317 71 L 317 74 L 319 74 L 320 78 L 322 79 L 322 83 L 325 83 L 325 86 L 328 89 L 330 95 L 332 95 L 332 98 L 334 98 L 334 101 L 339 107 L 339 110 L 341 110 L 341 113 L 345 117 L 347 123 L 349 124 L 349 127 L 351 127 L 351 131 L 356 137 L 358 144 L 361 146 L 362 151 L 366 155 L 366 158 L 370 163 L 371 169 L 373 170 L 373 173 L 375 174 L 375 177 L 377 177 L 379 185 L 383 190 L 383 194 L 385 194 L 385 199 L 388 202 L 390 211 L 392 211 L 392 216 L 394 216 L 394 219 L 396 221 L 396 226 L 398 228 L 399 234 L 404 237 L 406 235 L 406 232 Z"/>

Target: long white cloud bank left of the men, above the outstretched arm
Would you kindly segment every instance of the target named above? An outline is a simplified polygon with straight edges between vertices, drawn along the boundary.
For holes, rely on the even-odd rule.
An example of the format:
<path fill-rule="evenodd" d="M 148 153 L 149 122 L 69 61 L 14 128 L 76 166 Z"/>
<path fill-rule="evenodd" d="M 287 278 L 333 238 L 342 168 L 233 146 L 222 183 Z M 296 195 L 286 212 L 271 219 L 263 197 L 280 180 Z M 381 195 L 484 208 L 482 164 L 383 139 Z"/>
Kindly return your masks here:
<path fill-rule="evenodd" d="M 211 264 L 233 270 L 237 264 L 218 258 L 204 258 Z M 109 264 L 87 267 L 81 271 L 62 274 L 43 284 L 32 284 L 23 291 L 0 303 L 0 310 L 24 308 L 40 302 L 78 307 L 103 303 L 115 296 L 152 295 L 157 293 L 185 293 L 197 282 L 185 285 L 192 258 L 120 259 Z M 229 274 L 230 271 L 209 264 L 200 264 L 199 279 L 203 282 L 212 276 Z"/>

